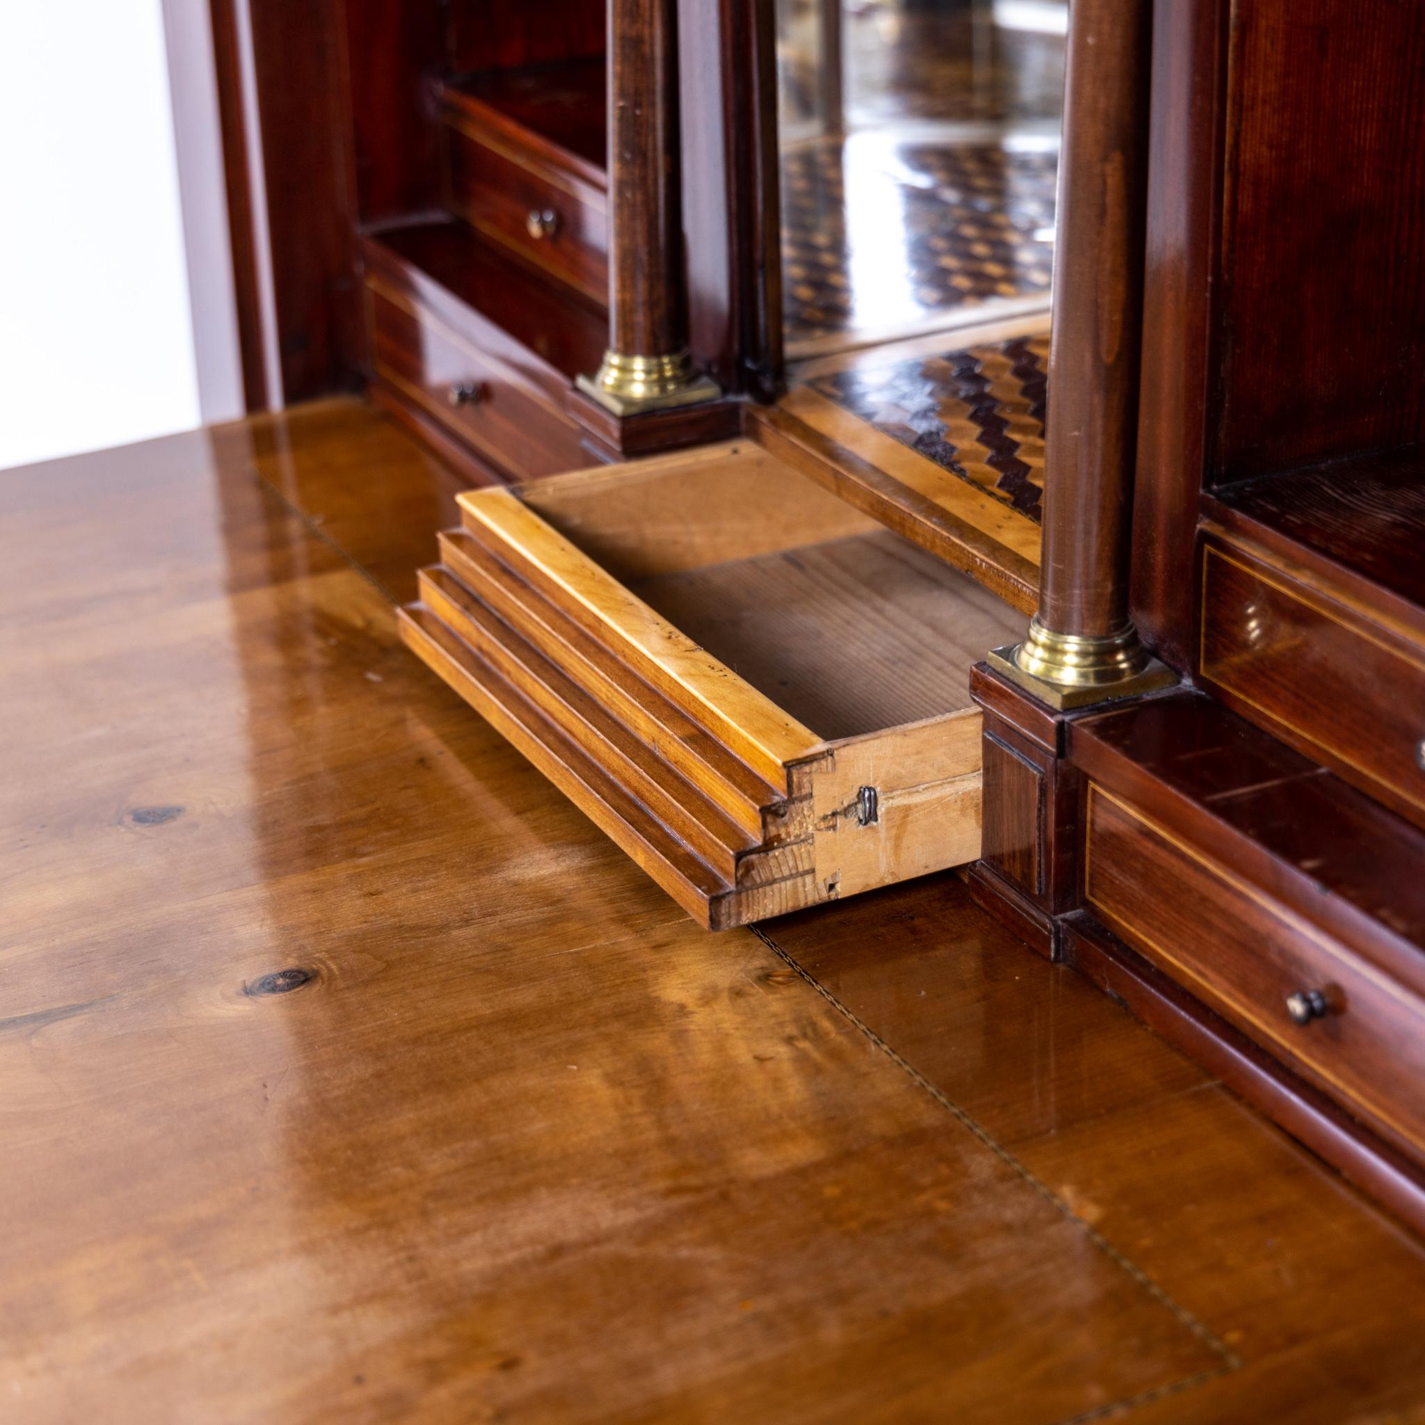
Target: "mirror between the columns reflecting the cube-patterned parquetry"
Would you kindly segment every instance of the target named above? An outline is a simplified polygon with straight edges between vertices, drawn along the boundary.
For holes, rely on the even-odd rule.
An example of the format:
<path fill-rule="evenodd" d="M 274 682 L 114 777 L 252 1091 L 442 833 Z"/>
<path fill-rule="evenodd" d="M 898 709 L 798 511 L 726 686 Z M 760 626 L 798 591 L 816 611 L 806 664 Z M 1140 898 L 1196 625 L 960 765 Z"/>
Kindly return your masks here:
<path fill-rule="evenodd" d="M 789 358 L 1047 308 L 1067 0 L 777 0 Z"/>

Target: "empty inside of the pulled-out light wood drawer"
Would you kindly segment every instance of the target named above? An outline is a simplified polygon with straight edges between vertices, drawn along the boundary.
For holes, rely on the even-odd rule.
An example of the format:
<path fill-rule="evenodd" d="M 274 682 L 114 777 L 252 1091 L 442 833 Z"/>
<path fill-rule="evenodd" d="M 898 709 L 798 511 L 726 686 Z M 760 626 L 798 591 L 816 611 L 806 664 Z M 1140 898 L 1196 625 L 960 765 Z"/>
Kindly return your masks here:
<path fill-rule="evenodd" d="M 524 502 L 822 738 L 970 707 L 970 667 L 1023 633 L 966 574 L 760 446 L 663 465 L 553 482 Z"/>

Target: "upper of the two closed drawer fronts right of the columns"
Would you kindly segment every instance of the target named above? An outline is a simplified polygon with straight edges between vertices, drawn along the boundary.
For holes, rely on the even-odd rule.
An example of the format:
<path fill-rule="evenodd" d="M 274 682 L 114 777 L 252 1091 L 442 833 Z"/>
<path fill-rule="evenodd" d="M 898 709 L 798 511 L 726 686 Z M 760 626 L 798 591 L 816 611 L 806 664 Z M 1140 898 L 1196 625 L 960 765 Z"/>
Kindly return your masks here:
<path fill-rule="evenodd" d="M 1425 648 L 1208 542 L 1200 667 L 1235 711 L 1425 825 Z"/>

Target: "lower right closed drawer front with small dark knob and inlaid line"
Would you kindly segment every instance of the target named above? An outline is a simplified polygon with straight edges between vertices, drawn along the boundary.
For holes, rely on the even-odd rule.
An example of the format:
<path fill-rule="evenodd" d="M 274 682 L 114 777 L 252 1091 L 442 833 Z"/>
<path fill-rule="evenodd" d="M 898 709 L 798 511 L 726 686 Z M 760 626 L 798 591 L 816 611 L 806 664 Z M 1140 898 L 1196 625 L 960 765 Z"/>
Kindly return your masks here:
<path fill-rule="evenodd" d="M 1174 980 L 1416 1154 L 1425 1000 L 1090 785 L 1084 899 Z M 1295 1023 L 1294 995 L 1324 1013 Z M 1302 1007 L 1298 1005 L 1298 1009 Z M 1305 1007 L 1311 1007 L 1310 1003 Z"/>

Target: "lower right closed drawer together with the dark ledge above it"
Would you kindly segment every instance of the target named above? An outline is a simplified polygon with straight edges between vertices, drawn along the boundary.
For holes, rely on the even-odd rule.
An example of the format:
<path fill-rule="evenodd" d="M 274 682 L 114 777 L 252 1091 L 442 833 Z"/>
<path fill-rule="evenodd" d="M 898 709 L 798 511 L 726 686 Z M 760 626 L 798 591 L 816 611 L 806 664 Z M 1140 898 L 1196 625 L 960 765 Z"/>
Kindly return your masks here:
<path fill-rule="evenodd" d="M 1399 1210 L 1425 1223 L 1409 1069 L 1425 835 L 1203 694 L 1074 718 L 1067 747 L 1093 784 L 1086 906 L 1288 1066 L 1268 1077 L 1290 1083 L 1294 1067 L 1358 1120 L 1318 1151 L 1405 1193 Z M 1294 1026 L 1302 1006 L 1292 1015 L 1287 996 L 1310 990 L 1321 1002 Z M 1295 1113 L 1294 1099 L 1258 1102 Z M 1389 1161 L 1372 1143 L 1395 1144 L 1404 1173 L 1372 1166 Z"/>

